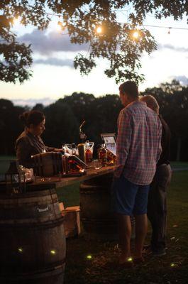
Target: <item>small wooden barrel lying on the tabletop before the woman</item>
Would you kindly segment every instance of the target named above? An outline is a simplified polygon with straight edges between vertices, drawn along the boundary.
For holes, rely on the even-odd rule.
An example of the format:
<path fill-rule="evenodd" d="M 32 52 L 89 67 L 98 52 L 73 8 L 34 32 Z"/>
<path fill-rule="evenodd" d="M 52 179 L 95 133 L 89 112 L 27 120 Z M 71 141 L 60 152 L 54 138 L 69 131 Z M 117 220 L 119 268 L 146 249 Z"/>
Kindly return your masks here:
<path fill-rule="evenodd" d="M 58 152 L 40 153 L 32 156 L 35 174 L 52 177 L 62 173 L 62 154 Z"/>

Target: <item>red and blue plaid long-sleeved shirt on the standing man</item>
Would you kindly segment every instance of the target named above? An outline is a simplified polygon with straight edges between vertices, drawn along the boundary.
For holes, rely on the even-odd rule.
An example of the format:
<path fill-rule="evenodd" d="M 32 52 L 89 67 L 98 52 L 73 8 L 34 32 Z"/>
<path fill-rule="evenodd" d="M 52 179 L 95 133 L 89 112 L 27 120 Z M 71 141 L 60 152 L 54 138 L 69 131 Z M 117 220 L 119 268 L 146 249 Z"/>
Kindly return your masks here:
<path fill-rule="evenodd" d="M 136 185 L 149 185 L 162 151 L 162 125 L 145 102 L 132 102 L 118 116 L 116 178 L 121 173 Z"/>

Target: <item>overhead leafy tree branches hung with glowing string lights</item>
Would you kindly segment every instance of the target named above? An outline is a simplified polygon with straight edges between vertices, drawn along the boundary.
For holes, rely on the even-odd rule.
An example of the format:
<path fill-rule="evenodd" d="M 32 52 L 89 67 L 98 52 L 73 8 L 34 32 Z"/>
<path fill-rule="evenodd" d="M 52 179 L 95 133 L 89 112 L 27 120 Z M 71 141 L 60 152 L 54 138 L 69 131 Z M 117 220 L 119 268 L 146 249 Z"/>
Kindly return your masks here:
<path fill-rule="evenodd" d="M 130 8 L 131 9 L 128 9 Z M 120 10 L 128 9 L 126 23 L 118 22 Z M 143 1 L 143 0 L 6 0 L 0 3 L 0 80 L 24 82 L 31 76 L 31 47 L 16 42 L 11 31 L 13 19 L 20 16 L 23 25 L 33 24 L 40 29 L 48 27 L 50 15 L 60 16 L 62 29 L 70 35 L 71 43 L 88 43 L 88 56 L 82 53 L 74 59 L 74 67 L 87 75 L 96 66 L 96 59 L 104 58 L 109 67 L 104 71 L 108 77 L 119 80 L 143 80 L 138 74 L 140 55 L 157 48 L 150 32 L 144 28 L 147 13 L 155 18 L 172 16 L 179 20 L 187 16 L 187 1 Z M 65 25 L 65 26 L 64 26 Z M 101 26 L 101 33 L 96 33 Z M 140 26 L 140 38 L 135 40 L 133 32 Z"/>

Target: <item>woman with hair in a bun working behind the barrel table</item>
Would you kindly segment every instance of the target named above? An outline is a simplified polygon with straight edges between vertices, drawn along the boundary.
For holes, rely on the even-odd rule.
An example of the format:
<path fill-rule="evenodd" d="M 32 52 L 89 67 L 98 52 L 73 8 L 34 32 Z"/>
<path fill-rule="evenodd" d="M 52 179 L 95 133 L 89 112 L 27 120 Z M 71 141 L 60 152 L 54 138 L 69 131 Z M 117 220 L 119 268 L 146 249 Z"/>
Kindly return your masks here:
<path fill-rule="evenodd" d="M 41 111 L 25 111 L 19 116 L 25 130 L 16 140 L 16 157 L 20 165 L 32 168 L 32 155 L 43 152 L 60 152 L 62 149 L 45 146 L 40 135 L 45 130 L 45 116 Z"/>

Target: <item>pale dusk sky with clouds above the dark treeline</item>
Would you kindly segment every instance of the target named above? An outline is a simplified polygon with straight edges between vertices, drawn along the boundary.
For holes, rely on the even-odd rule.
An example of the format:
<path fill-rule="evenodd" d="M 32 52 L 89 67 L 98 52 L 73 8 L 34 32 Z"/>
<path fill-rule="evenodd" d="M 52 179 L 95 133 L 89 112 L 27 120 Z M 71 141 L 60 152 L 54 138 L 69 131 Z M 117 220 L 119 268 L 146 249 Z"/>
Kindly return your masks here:
<path fill-rule="evenodd" d="M 33 77 L 23 84 L 1 82 L 1 97 L 11 99 L 15 104 L 32 105 L 36 102 L 50 104 L 72 92 L 92 93 L 96 97 L 104 94 L 118 94 L 118 85 L 114 78 L 109 79 L 104 75 L 106 66 L 104 60 L 99 60 L 97 67 L 88 76 L 82 77 L 79 75 L 79 70 L 74 70 L 74 56 L 78 52 L 87 54 L 89 46 L 71 44 L 68 35 L 57 31 L 57 21 L 58 18 L 53 16 L 46 31 L 38 31 L 32 26 L 25 28 L 19 23 L 13 26 L 13 31 L 18 34 L 21 42 L 32 44 Z M 145 82 L 140 84 L 140 90 L 156 87 L 161 82 L 170 82 L 174 78 L 181 84 L 187 85 L 188 25 L 186 19 L 173 21 L 172 18 L 167 18 L 160 21 L 148 15 L 144 24 L 172 28 L 168 34 L 168 28 L 148 27 L 155 36 L 158 49 L 150 55 L 142 56 L 143 67 L 140 73 L 145 75 Z M 175 28 L 184 28 L 184 30 Z"/>

